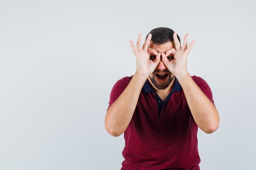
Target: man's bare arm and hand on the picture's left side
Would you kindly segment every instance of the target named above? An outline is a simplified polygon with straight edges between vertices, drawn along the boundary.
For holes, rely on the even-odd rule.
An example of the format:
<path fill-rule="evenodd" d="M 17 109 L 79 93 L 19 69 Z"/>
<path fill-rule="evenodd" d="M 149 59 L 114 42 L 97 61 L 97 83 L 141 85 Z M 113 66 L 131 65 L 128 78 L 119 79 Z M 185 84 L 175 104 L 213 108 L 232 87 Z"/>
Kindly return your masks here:
<path fill-rule="evenodd" d="M 161 53 L 157 53 L 156 50 L 148 52 L 148 44 L 150 43 L 150 40 L 151 34 L 148 35 L 148 38 L 142 48 L 141 34 L 138 36 L 136 47 L 132 41 L 130 41 L 132 51 L 137 58 L 137 70 L 128 86 L 121 93 L 118 99 L 114 99 L 115 102 L 110 106 L 106 113 L 105 128 L 112 136 L 117 137 L 121 135 L 128 127 L 137 105 L 141 88 L 146 82 L 147 77 L 153 73 L 160 62 Z M 154 53 L 156 55 L 154 61 L 150 60 L 150 53 Z"/>

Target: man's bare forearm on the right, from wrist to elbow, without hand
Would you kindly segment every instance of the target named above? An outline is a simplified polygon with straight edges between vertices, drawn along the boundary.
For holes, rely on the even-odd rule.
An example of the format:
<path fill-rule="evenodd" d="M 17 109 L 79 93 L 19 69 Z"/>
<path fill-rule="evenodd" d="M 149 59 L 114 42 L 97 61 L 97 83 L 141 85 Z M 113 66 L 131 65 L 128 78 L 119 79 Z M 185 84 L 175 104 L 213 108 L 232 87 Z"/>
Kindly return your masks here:
<path fill-rule="evenodd" d="M 176 78 L 182 86 L 189 109 L 198 127 L 206 133 L 217 130 L 220 117 L 213 103 L 204 95 L 189 73 Z"/>

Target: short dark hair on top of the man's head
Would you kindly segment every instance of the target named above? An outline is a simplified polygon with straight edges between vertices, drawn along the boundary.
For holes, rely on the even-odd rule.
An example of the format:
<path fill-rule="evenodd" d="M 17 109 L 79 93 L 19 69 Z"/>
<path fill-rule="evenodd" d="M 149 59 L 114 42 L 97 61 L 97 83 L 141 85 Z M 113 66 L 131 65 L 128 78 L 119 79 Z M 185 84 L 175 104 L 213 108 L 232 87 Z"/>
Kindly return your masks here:
<path fill-rule="evenodd" d="M 150 31 L 150 34 L 152 34 L 151 41 L 153 41 L 154 44 L 158 44 L 158 45 L 164 44 L 168 41 L 173 42 L 174 41 L 173 40 L 173 33 L 174 33 L 174 31 L 172 29 L 169 29 L 169 28 L 166 28 L 166 27 L 155 28 L 155 29 Z M 146 36 L 146 39 L 147 38 L 148 38 L 148 35 Z M 178 34 L 177 34 L 177 38 L 180 42 L 180 37 L 179 37 Z"/>

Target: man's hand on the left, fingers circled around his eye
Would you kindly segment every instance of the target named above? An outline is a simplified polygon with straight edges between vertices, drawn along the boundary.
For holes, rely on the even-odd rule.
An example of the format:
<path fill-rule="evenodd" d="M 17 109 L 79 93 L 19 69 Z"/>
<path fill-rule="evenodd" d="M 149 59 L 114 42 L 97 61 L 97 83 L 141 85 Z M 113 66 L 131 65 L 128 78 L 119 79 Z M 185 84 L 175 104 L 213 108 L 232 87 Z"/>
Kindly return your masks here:
<path fill-rule="evenodd" d="M 135 74 L 143 77 L 148 77 L 160 62 L 160 55 L 155 49 L 148 49 L 152 35 L 148 34 L 148 38 L 141 48 L 141 33 L 138 35 L 136 47 L 132 41 L 129 41 L 132 51 L 137 58 L 137 70 Z M 150 59 L 150 54 L 154 55 L 155 59 Z"/>

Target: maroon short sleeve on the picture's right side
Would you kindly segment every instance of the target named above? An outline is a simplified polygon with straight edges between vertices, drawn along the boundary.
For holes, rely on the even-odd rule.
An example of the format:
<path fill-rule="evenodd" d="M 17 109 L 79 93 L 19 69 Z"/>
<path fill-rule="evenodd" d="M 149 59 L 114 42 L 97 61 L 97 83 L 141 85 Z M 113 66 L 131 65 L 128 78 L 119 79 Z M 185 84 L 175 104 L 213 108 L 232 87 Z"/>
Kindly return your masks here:
<path fill-rule="evenodd" d="M 204 95 L 206 95 L 208 97 L 208 99 L 210 99 L 211 102 L 213 103 L 213 105 L 215 106 L 214 100 L 213 100 L 213 94 L 212 94 L 211 88 L 209 87 L 207 82 L 204 79 L 202 79 L 201 77 L 198 77 L 195 75 L 193 75 L 192 78 L 193 78 L 194 82 L 198 85 L 198 87 L 201 89 L 201 91 L 204 93 Z"/>

